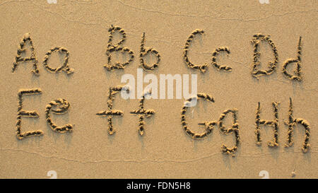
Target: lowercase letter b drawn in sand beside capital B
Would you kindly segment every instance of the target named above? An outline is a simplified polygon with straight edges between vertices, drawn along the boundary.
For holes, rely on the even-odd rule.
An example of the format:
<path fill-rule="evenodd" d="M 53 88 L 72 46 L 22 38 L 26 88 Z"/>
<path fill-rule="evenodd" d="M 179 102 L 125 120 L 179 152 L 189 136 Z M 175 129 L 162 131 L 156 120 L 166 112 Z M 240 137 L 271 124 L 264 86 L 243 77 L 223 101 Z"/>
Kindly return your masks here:
<path fill-rule="evenodd" d="M 156 49 L 151 48 L 145 48 L 145 42 L 146 42 L 146 36 L 145 33 L 143 33 L 143 36 L 141 37 L 141 45 L 140 45 L 140 54 L 139 54 L 139 59 L 140 59 L 140 66 L 143 67 L 145 71 L 153 71 L 158 67 L 158 64 L 160 62 L 160 54 Z M 157 58 L 157 62 L 155 62 L 152 65 L 146 64 L 145 60 L 143 57 L 145 57 L 147 54 L 154 54 L 155 57 Z"/>

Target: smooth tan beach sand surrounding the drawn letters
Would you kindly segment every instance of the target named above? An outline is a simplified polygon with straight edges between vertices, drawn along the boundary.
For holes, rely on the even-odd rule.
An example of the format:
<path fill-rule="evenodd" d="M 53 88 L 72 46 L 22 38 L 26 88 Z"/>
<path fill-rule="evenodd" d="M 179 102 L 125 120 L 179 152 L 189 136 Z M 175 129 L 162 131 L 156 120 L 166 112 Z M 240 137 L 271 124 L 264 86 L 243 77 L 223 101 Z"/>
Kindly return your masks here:
<path fill-rule="evenodd" d="M 261 178 L 261 170 L 271 178 L 318 177 L 317 131 L 317 1 L 0 1 L 0 177 L 48 178 L 54 170 L 58 178 Z M 134 52 L 134 61 L 123 70 L 107 71 L 105 54 L 110 25 L 126 32 L 125 47 Z M 184 44 L 196 29 L 189 59 L 194 64 L 208 63 L 205 74 L 189 69 L 184 63 Z M 204 139 L 192 139 L 180 122 L 184 100 L 146 100 L 145 108 L 155 110 L 146 119 L 145 133 L 139 135 L 137 110 L 139 100 L 114 97 L 115 134 L 107 131 L 107 118 L 96 113 L 107 110 L 111 86 L 122 85 L 123 74 L 136 76 L 139 66 L 141 35 L 146 33 L 146 47 L 160 53 L 158 69 L 153 74 L 198 74 L 198 92 L 212 95 L 215 103 L 199 101 L 187 111 L 187 124 L 201 132 L 198 122 L 218 120 L 224 110 L 236 108 L 240 145 L 235 157 L 221 152 L 222 144 L 235 144 L 233 133 L 225 135 L 216 127 Z M 32 63 L 18 65 L 11 72 L 19 42 L 30 33 L 40 76 L 31 73 Z M 252 72 L 252 36 L 271 35 L 278 52 L 278 64 L 269 76 L 254 78 Z M 283 62 L 297 57 L 302 36 L 303 80 L 290 81 L 283 75 Z M 114 37 L 115 38 L 115 37 Z M 118 37 L 117 39 L 118 40 Z M 116 41 L 114 40 L 114 41 Z M 69 67 L 52 74 L 42 64 L 49 49 L 65 47 Z M 220 53 L 218 64 L 232 71 L 218 71 L 211 65 L 212 52 Z M 271 47 L 260 45 L 261 69 L 273 59 Z M 30 55 L 30 52 L 27 52 Z M 120 57 L 120 55 L 119 55 Z M 49 65 L 56 68 L 63 61 L 52 54 Z M 155 59 L 152 60 L 155 62 Z M 293 64 L 294 65 L 294 64 Z M 290 64 L 288 71 L 293 72 Z M 148 74 L 148 72 L 144 72 Z M 145 85 L 146 86 L 146 85 Z M 43 136 L 16 138 L 18 90 L 40 88 L 41 95 L 23 97 L 23 109 L 35 110 L 40 117 L 22 118 L 21 131 L 42 130 Z M 64 115 L 53 115 L 53 122 L 73 124 L 73 132 L 53 131 L 45 120 L 45 107 L 52 100 L 64 98 L 70 103 Z M 310 123 L 310 151 L 302 153 L 304 127 L 294 129 L 295 144 L 284 148 L 287 140 L 289 98 L 293 115 Z M 261 119 L 273 120 L 273 102 L 278 102 L 278 147 L 270 148 L 273 127 L 260 126 L 263 143 L 257 146 L 254 130 L 257 104 Z M 225 126 L 232 122 L 225 117 Z"/>

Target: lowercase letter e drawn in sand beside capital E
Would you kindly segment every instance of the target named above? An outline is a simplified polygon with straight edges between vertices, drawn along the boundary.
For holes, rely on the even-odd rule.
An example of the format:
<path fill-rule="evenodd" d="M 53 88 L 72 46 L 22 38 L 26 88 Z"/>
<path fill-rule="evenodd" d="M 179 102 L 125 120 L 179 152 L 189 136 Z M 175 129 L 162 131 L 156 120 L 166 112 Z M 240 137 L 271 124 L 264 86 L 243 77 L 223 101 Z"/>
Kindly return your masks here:
<path fill-rule="evenodd" d="M 56 109 L 52 109 L 52 107 L 56 107 Z M 69 102 L 63 98 L 59 98 L 57 100 L 52 100 L 49 104 L 45 107 L 45 119 L 47 119 L 47 124 L 53 131 L 57 131 L 61 134 L 65 133 L 66 131 L 73 131 L 72 124 L 66 124 L 63 127 L 58 127 L 57 124 L 52 122 L 51 117 L 49 116 L 49 112 L 52 111 L 54 114 L 61 115 L 69 110 Z"/>

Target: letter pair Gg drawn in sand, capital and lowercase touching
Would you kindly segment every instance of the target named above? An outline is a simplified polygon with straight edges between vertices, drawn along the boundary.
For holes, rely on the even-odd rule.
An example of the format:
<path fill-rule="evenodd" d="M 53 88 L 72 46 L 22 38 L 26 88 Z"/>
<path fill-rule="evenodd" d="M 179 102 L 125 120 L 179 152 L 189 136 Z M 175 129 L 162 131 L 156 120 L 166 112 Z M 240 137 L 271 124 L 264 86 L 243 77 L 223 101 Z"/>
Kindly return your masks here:
<path fill-rule="evenodd" d="M 225 144 L 222 144 L 221 151 L 223 153 L 227 153 L 229 155 L 235 156 L 234 153 L 235 153 L 235 151 L 237 151 L 237 146 L 240 144 L 239 127 L 238 127 L 238 123 L 237 123 L 237 109 L 225 110 L 220 115 L 220 119 L 218 119 L 218 121 L 199 122 L 198 125 L 205 127 L 206 131 L 204 131 L 202 133 L 195 133 L 194 131 L 189 129 L 189 127 L 187 126 L 185 114 L 187 112 L 187 108 L 191 106 L 190 104 L 192 103 L 192 100 L 199 100 L 200 98 L 203 100 L 210 101 L 210 102 L 214 103 L 213 97 L 211 95 L 206 94 L 206 93 L 198 93 L 195 97 L 187 99 L 182 107 L 182 110 L 181 110 L 181 124 L 182 124 L 184 131 L 186 131 L 186 133 L 189 134 L 189 136 L 192 136 L 193 139 L 202 139 L 205 136 L 208 136 L 208 134 L 211 134 L 211 131 L 214 129 L 214 127 L 216 125 L 218 125 L 218 127 L 220 127 L 220 131 L 223 134 L 230 134 L 234 131 L 235 146 L 233 146 L 232 148 L 228 148 Z M 228 115 L 228 113 L 232 113 L 233 122 L 232 122 L 232 126 L 229 129 L 225 129 L 225 126 L 223 125 L 223 120 L 226 117 L 226 115 Z"/>

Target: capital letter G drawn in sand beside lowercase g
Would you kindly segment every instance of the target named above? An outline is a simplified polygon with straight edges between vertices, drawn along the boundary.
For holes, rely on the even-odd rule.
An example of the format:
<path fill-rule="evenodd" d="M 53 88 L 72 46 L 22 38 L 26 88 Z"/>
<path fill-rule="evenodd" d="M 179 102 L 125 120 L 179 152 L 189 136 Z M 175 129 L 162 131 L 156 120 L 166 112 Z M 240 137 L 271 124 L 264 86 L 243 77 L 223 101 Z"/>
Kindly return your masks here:
<path fill-rule="evenodd" d="M 214 129 L 214 126 L 217 124 L 217 122 L 201 122 L 201 123 L 199 123 L 199 125 L 204 126 L 206 129 L 206 131 L 204 131 L 201 134 L 194 133 L 194 131 L 189 129 L 189 127 L 187 126 L 187 121 L 185 118 L 187 108 L 192 107 L 193 101 L 194 101 L 194 103 L 197 103 L 197 100 L 199 100 L 200 98 L 203 100 L 210 101 L 210 102 L 214 103 L 214 99 L 211 95 L 207 95 L 205 93 L 198 93 L 196 96 L 187 99 L 182 107 L 182 110 L 181 110 L 182 127 L 183 127 L 184 131 L 186 131 L 186 133 L 189 134 L 189 136 L 192 136 L 193 139 L 201 139 L 201 138 L 204 138 L 205 136 L 208 136 L 208 134 L 211 133 L 211 131 Z"/>

